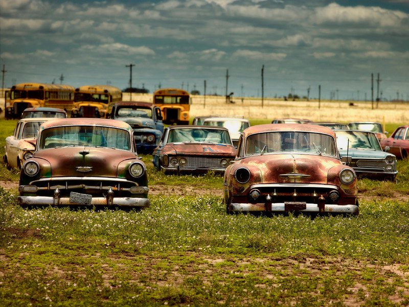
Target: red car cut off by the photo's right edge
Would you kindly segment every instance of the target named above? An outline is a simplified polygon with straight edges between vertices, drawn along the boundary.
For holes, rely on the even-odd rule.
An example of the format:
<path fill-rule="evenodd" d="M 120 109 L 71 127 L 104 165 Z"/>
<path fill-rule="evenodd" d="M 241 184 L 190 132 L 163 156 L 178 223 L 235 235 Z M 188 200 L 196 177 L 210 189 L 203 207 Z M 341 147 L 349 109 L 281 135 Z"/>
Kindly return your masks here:
<path fill-rule="evenodd" d="M 409 153 L 409 125 L 397 128 L 390 137 L 380 141 L 380 146 L 398 159 L 406 159 Z"/>

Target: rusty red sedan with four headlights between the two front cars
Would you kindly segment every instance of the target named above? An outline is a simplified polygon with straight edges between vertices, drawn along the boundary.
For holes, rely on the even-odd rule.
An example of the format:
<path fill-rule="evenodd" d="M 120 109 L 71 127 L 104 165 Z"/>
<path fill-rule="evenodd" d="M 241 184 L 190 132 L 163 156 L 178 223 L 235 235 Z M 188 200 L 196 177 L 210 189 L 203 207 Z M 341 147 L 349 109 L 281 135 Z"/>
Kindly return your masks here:
<path fill-rule="evenodd" d="M 211 126 L 169 126 L 153 151 L 153 164 L 166 173 L 223 173 L 236 149 L 229 130 Z"/>

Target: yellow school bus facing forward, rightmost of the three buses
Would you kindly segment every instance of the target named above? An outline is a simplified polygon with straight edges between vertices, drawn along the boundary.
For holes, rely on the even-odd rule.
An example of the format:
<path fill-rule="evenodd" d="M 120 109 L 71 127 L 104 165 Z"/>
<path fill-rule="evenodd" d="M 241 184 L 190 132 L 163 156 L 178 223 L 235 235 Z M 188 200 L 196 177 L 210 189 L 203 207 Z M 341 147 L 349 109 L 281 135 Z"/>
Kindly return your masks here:
<path fill-rule="evenodd" d="M 165 124 L 189 124 L 189 93 L 186 90 L 158 89 L 153 93 L 153 103 L 161 108 Z"/>

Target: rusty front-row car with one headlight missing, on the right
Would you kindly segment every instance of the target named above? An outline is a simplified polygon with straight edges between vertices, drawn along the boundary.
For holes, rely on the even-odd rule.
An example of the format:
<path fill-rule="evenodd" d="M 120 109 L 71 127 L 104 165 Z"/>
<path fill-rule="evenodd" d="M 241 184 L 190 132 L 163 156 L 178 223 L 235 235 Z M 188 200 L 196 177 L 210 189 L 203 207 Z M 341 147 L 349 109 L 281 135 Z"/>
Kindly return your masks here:
<path fill-rule="evenodd" d="M 334 131 L 323 126 L 247 128 L 223 184 L 228 213 L 359 214 L 356 174 L 341 160 Z"/>

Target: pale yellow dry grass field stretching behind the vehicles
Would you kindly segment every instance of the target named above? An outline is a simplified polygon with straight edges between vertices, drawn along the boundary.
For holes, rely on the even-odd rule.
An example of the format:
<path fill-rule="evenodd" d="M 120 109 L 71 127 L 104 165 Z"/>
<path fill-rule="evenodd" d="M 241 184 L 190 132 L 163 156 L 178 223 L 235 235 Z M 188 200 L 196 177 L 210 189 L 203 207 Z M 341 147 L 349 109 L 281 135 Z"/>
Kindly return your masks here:
<path fill-rule="evenodd" d="M 124 93 L 123 100 L 129 100 Z M 152 102 L 151 94 L 132 94 L 134 101 Z M 242 115 L 247 119 L 274 120 L 285 117 L 309 119 L 316 122 L 372 121 L 383 123 L 409 123 L 409 103 L 380 102 L 372 109 L 371 101 L 283 101 L 265 98 L 261 107 L 260 98 L 233 98 L 235 103 L 225 103 L 218 96 L 191 96 L 191 119 L 199 115 Z M 353 106 L 350 106 L 353 103 Z"/>

